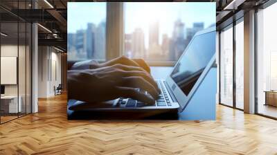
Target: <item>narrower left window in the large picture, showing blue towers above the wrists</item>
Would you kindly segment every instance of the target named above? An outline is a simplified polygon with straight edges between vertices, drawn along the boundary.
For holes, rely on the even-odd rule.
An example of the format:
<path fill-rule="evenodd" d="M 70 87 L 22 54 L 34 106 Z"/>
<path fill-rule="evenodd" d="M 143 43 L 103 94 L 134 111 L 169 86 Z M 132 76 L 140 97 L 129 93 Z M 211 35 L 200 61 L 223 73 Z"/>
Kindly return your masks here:
<path fill-rule="evenodd" d="M 80 11 L 82 10 L 82 11 Z M 68 3 L 67 54 L 69 61 L 106 59 L 107 4 Z"/>

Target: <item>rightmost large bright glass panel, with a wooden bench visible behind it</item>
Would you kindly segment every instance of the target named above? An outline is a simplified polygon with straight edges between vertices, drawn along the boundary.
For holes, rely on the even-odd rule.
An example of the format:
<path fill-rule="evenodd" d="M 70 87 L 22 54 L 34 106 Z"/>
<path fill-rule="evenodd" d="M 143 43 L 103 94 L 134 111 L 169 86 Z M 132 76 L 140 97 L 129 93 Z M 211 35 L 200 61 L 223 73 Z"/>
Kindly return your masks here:
<path fill-rule="evenodd" d="M 258 113 L 277 118 L 277 3 L 259 10 L 257 95 Z"/>

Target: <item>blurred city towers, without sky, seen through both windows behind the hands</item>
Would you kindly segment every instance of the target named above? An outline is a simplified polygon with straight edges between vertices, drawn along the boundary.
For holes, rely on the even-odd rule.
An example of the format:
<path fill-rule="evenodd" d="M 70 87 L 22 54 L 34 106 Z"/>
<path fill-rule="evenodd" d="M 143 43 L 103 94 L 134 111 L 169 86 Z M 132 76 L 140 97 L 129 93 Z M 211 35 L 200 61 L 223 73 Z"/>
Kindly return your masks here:
<path fill-rule="evenodd" d="M 193 23 L 192 28 L 186 28 L 180 19 L 174 22 L 175 29 L 172 37 L 159 33 L 159 23 L 150 26 L 149 36 L 145 35 L 142 28 L 136 28 L 133 33 L 125 33 L 125 55 L 128 57 L 143 57 L 163 60 L 177 60 L 183 53 L 190 39 L 197 31 L 204 29 L 203 22 Z M 159 43 L 159 36 L 162 42 Z M 145 42 L 145 38 L 149 42 Z M 105 60 L 105 22 L 98 25 L 87 24 L 87 29 L 77 30 L 68 34 L 69 60 L 101 59 Z"/>

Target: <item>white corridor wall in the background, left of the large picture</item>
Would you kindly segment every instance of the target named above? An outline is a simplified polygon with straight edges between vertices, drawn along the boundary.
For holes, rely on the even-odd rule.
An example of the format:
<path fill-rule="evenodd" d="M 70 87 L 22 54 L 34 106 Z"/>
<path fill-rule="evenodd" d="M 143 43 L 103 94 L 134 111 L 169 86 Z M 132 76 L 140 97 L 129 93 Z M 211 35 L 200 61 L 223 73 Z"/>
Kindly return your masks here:
<path fill-rule="evenodd" d="M 58 84 L 60 84 L 62 81 L 61 54 L 57 52 L 58 51 L 56 51 L 53 47 L 39 46 L 39 98 L 48 98 L 55 95 L 54 86 L 58 86 Z M 55 73 L 57 73 L 57 79 L 55 78 Z"/>

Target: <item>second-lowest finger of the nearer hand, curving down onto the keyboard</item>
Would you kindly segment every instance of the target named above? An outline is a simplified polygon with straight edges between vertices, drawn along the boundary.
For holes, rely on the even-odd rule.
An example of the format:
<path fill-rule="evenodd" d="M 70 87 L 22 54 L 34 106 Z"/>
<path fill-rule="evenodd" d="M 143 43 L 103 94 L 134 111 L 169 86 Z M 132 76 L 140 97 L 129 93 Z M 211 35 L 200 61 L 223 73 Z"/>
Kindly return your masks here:
<path fill-rule="evenodd" d="M 143 91 L 148 91 L 154 99 L 157 99 L 159 96 L 158 91 L 150 84 L 148 81 L 144 80 L 141 77 L 127 77 L 123 79 L 120 86 L 139 88 Z"/>

